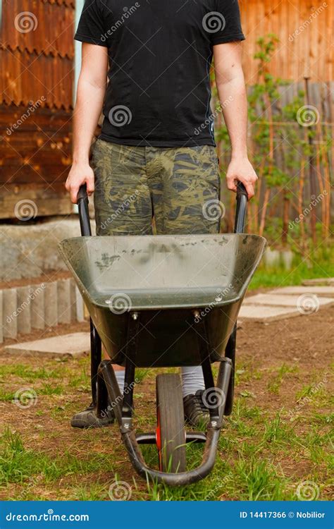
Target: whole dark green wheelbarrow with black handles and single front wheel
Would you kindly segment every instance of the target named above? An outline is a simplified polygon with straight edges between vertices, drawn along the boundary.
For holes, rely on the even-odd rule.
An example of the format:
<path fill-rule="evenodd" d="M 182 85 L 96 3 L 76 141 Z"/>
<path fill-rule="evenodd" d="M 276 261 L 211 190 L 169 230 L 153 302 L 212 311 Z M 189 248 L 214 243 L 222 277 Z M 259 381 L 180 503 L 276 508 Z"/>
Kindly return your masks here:
<path fill-rule="evenodd" d="M 218 235 L 92 236 L 85 187 L 78 193 L 81 237 L 59 245 L 89 310 L 92 400 L 113 409 L 128 456 L 144 479 L 167 485 L 202 480 L 214 467 L 223 416 L 233 408 L 237 315 L 266 241 L 245 231 L 247 193 L 237 187 L 235 231 Z M 101 361 L 101 343 L 110 360 Z M 219 363 L 216 384 L 211 364 Z M 125 367 L 123 396 L 112 365 Z M 132 425 L 137 367 L 202 365 L 206 432 L 186 432 L 180 376 L 156 377 L 156 432 Z M 205 443 L 186 469 L 187 443 Z M 156 444 L 159 470 L 141 444 Z"/>

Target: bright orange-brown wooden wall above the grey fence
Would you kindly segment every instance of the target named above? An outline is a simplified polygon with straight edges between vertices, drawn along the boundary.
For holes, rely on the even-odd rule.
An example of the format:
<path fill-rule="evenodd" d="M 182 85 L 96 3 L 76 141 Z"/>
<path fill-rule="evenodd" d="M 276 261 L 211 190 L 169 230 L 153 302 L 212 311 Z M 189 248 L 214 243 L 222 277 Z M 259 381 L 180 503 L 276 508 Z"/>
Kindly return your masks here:
<path fill-rule="evenodd" d="M 333 80 L 333 0 L 240 0 L 240 9 L 247 83 L 257 79 L 256 40 L 269 33 L 280 38 L 270 66 L 274 76 L 297 81 L 307 75 L 313 83 Z"/>

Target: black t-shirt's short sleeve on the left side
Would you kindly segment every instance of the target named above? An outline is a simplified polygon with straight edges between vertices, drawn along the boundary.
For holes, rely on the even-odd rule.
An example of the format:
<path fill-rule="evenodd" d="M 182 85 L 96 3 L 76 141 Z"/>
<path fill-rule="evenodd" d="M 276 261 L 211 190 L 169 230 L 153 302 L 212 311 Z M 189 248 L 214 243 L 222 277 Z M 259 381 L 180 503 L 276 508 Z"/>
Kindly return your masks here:
<path fill-rule="evenodd" d="M 100 0 L 85 0 L 75 40 L 107 46 Z"/>

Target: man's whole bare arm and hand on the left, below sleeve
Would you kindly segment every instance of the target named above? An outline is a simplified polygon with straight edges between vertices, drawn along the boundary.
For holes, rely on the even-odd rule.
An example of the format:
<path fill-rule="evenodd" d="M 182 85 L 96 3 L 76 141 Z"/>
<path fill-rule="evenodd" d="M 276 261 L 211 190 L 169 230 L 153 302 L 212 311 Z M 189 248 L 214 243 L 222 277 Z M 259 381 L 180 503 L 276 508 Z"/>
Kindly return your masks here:
<path fill-rule="evenodd" d="M 97 128 L 106 92 L 108 50 L 96 44 L 82 44 L 82 66 L 73 118 L 73 164 L 66 180 L 66 190 L 75 204 L 80 186 L 94 191 L 94 172 L 89 166 L 89 150 Z"/>

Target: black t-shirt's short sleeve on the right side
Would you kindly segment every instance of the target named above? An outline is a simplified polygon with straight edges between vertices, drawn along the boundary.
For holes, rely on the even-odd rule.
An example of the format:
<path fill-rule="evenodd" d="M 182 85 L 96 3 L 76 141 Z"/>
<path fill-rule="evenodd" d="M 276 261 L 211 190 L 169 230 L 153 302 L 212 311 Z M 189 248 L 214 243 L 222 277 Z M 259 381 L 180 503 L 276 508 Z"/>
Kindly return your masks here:
<path fill-rule="evenodd" d="M 207 30 L 211 33 L 211 44 L 245 40 L 238 0 L 216 0 L 215 4 L 216 11 L 206 15 Z"/>

